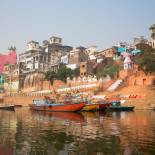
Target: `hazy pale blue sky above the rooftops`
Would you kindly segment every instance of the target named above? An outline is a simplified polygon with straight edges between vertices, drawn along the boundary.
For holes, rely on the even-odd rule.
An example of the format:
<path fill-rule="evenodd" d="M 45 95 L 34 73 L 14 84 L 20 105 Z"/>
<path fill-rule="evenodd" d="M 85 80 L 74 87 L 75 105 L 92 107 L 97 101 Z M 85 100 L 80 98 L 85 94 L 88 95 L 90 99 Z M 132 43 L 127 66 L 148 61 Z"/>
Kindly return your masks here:
<path fill-rule="evenodd" d="M 71 46 L 108 48 L 149 37 L 155 0 L 0 0 L 0 53 L 55 35 Z"/>

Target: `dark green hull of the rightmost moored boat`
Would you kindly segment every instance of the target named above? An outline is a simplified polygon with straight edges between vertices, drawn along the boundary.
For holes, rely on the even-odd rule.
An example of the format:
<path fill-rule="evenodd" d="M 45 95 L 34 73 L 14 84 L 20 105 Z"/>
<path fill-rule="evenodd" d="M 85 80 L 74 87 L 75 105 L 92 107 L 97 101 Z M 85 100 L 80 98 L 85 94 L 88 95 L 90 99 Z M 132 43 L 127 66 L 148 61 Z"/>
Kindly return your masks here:
<path fill-rule="evenodd" d="M 111 106 L 108 107 L 107 110 L 109 111 L 133 111 L 134 110 L 134 106 Z"/>

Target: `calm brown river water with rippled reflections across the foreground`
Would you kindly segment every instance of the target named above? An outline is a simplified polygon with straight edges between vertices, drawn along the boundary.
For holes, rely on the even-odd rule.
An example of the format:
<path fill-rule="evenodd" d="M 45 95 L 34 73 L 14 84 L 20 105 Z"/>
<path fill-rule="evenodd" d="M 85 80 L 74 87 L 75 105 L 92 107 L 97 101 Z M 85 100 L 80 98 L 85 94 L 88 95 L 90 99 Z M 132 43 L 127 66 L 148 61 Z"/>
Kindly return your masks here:
<path fill-rule="evenodd" d="M 155 111 L 0 110 L 0 155 L 155 155 Z"/>

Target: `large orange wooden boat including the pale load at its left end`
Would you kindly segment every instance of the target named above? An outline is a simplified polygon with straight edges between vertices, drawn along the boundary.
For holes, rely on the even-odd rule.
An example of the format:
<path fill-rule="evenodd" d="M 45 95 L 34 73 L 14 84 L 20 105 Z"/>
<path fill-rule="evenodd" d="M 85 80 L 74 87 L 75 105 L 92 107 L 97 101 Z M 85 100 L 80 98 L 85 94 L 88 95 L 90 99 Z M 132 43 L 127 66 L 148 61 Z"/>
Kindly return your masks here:
<path fill-rule="evenodd" d="M 30 109 L 39 111 L 64 111 L 74 112 L 79 111 L 84 107 L 85 103 L 73 103 L 73 104 L 59 104 L 51 103 L 50 100 L 33 100 L 33 104 L 30 104 Z"/>

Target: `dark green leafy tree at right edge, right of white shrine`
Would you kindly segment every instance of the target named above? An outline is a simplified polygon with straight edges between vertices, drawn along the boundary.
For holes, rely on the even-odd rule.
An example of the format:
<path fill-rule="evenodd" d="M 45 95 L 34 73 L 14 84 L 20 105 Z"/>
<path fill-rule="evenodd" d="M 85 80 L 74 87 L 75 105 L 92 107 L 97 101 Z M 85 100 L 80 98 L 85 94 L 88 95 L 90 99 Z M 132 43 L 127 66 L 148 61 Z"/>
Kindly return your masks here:
<path fill-rule="evenodd" d="M 137 63 L 146 74 L 155 72 L 155 49 L 147 44 L 138 44 L 137 49 L 140 49 L 142 53 L 134 58 L 134 62 Z"/>

